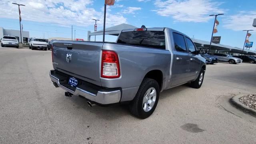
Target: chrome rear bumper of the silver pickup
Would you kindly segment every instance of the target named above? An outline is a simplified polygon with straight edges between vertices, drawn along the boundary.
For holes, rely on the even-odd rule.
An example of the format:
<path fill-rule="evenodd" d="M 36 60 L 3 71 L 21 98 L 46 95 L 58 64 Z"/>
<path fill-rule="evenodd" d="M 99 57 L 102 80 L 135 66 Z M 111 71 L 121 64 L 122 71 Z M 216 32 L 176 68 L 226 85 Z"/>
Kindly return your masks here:
<path fill-rule="evenodd" d="M 113 90 L 113 91 L 102 90 L 102 91 L 98 91 L 97 94 L 93 94 L 91 92 L 88 92 L 86 90 L 76 87 L 76 89 L 73 91 L 73 90 L 70 90 L 69 88 L 66 88 L 65 86 L 62 86 L 60 84 L 60 79 L 51 74 L 52 71 L 53 70 L 51 70 L 49 74 L 52 82 L 58 85 L 58 86 L 56 85 L 55 86 L 63 88 L 64 90 L 70 92 L 71 94 L 83 96 L 88 100 L 91 100 L 99 104 L 114 104 L 114 103 L 120 102 L 120 99 L 121 99 L 120 90 Z"/>

